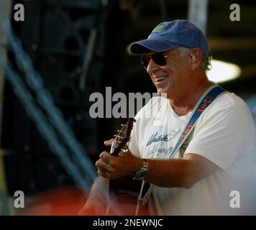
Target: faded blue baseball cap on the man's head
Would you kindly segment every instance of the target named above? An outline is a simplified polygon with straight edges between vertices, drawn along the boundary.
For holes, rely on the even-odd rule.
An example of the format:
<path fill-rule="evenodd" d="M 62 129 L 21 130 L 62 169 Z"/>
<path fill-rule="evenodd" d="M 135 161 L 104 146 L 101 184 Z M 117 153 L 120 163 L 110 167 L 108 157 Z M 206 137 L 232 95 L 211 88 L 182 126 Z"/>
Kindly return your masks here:
<path fill-rule="evenodd" d="M 201 29 L 188 20 L 180 19 L 158 24 L 147 39 L 129 45 L 129 52 L 142 55 L 149 51 L 165 52 L 178 46 L 198 47 L 204 55 L 211 55 L 206 36 Z"/>

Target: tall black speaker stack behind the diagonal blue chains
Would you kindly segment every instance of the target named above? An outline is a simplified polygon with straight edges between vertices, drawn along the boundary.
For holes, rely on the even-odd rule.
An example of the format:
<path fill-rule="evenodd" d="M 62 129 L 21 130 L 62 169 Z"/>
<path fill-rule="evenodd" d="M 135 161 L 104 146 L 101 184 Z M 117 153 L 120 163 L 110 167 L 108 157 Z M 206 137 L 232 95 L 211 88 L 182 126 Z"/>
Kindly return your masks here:
<path fill-rule="evenodd" d="M 98 158 L 102 146 L 102 129 L 99 120 L 88 116 L 91 106 L 88 98 L 91 93 L 104 90 L 106 27 L 116 4 L 116 1 L 106 1 L 108 4 L 104 5 L 103 2 L 13 1 L 13 5 L 24 4 L 25 9 L 24 22 L 12 20 L 14 32 L 45 88 L 52 93 L 55 106 L 92 161 Z M 8 57 L 15 63 L 12 52 Z M 24 73 L 17 65 L 14 68 L 24 80 Z M 35 92 L 30 93 L 35 96 Z M 104 126 L 105 132 L 108 125 Z M 4 167 L 9 194 L 13 195 L 15 190 L 33 194 L 73 183 L 8 82 L 4 87 L 1 147 L 8 149 Z"/>

